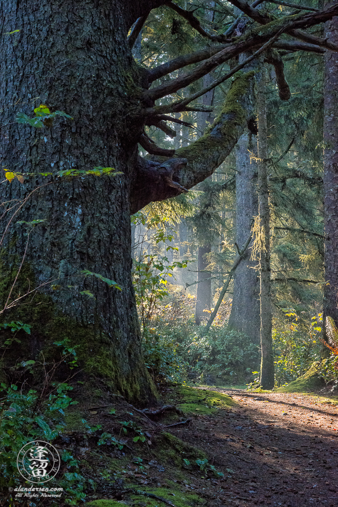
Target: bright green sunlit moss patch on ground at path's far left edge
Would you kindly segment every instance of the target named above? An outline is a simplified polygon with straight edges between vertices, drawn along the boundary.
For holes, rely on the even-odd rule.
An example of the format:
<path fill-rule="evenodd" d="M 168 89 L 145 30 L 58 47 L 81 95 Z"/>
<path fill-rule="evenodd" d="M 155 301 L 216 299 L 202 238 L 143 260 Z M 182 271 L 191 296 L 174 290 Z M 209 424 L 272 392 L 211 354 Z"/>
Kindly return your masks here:
<path fill-rule="evenodd" d="M 180 386 L 176 389 L 175 395 L 182 402 L 179 404 L 179 408 L 186 414 L 210 415 L 215 413 L 218 408 L 236 405 L 230 396 L 208 389 Z"/>

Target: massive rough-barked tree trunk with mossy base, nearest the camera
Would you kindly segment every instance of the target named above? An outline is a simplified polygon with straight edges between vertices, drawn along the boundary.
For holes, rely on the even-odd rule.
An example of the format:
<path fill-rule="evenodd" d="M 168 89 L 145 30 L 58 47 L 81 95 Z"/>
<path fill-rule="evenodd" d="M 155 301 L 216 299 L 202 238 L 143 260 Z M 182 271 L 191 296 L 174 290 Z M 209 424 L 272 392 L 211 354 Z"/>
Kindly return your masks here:
<path fill-rule="evenodd" d="M 0 4 L 3 31 L 21 28 L 0 39 L 6 62 L 0 80 L 2 124 L 11 124 L 19 112 L 31 117 L 33 106 L 40 103 L 73 118 L 55 119 L 51 128 L 2 128 L 3 165 L 35 176 L 26 177 L 24 184 L 16 179 L 1 185 L 1 202 L 21 201 L 36 190 L 2 245 L 2 267 L 8 276 L 1 300 L 4 306 L 26 248 L 27 227 L 14 223 L 44 220 L 30 234 L 10 300 L 22 295 L 28 284 L 41 286 L 29 305 L 15 310 L 16 319 L 32 324 L 30 344 L 22 345 L 16 358 L 29 354 L 35 359 L 40 350 L 48 357 L 54 341 L 69 338 L 79 346 L 83 371 L 76 379 L 90 384 L 86 392 L 101 381 L 105 390 L 145 401 L 155 396 L 155 388 L 142 361 L 130 275 L 129 182 L 142 123 L 132 115 L 138 108 L 136 99 L 126 94 L 132 82 L 141 81 L 126 35 L 142 2 L 136 4 Z M 39 175 L 94 166 L 113 167 L 123 174 L 61 180 Z M 2 231 L 6 225 L 3 219 Z M 122 291 L 95 276 L 85 278 L 83 270 L 114 280 Z M 4 313 L 6 320 L 13 315 Z"/>

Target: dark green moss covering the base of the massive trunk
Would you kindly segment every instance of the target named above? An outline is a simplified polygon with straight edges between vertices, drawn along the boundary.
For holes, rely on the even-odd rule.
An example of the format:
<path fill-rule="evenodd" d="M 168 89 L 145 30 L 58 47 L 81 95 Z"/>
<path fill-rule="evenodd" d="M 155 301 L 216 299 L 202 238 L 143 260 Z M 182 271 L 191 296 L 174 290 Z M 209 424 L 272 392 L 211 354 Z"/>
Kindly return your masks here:
<path fill-rule="evenodd" d="M 4 251 L 2 256 L 5 257 Z M 10 267 L 8 267 L 9 265 Z M 0 270 L 3 275 L 0 280 L 0 302 L 3 306 L 7 301 L 19 265 L 19 260 L 15 256 L 12 256 L 10 260 L 7 259 L 6 265 L 0 261 Z M 33 269 L 28 263 L 24 263 L 12 293 L 12 300 L 20 294 L 25 294 L 29 288 L 34 286 Z M 23 331 L 20 331 L 16 335 L 20 343 L 14 342 L 4 355 L 7 371 L 13 372 L 14 375 L 16 371 L 12 367 L 16 365 L 18 360 L 33 359 L 41 363 L 42 357 L 44 357 L 46 362 L 59 363 L 63 348 L 56 346 L 55 342 L 68 339 L 69 346 L 76 347 L 79 358 L 81 372 L 77 374 L 76 380 L 84 382 L 82 389 L 84 400 L 87 399 L 88 393 L 93 399 L 101 397 L 103 392 L 101 389 L 118 392 L 131 401 L 145 401 L 146 391 L 148 391 L 149 398 L 158 399 L 155 385 L 141 361 L 127 376 L 121 370 L 123 365 L 121 365 L 118 356 L 119 349 L 116 343 L 94 326 L 81 326 L 61 311 L 57 311 L 50 296 L 37 293 L 31 304 L 19 305 L 6 313 L 6 321 L 10 322 L 11 320 L 21 320 L 32 327 L 31 336 L 28 337 Z M 2 333 L 0 345 L 10 336 L 12 336 L 10 330 Z M 134 344 L 130 343 L 130 348 L 133 346 Z M 128 353 L 128 351 L 125 352 Z M 133 355 L 132 350 L 130 355 Z M 59 368 L 60 378 L 56 375 L 55 379 L 64 381 L 70 376 L 70 372 L 73 374 L 75 370 L 69 370 L 66 364 L 62 364 Z M 43 379 L 43 368 L 40 370 L 34 368 L 33 374 L 35 381 L 39 383 Z M 3 376 L 2 373 L 1 377 Z M 17 379 L 13 377 L 11 379 L 2 378 L 2 380 L 15 383 Z"/>

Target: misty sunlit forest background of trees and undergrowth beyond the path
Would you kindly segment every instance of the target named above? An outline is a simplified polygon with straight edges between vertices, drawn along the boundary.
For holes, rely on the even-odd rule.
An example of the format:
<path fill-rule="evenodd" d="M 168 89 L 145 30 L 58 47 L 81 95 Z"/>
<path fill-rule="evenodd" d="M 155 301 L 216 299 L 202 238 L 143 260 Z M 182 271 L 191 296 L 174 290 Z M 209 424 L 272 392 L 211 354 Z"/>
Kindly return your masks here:
<path fill-rule="evenodd" d="M 294 12 L 294 6 L 273 5 L 270 9 L 272 13 Z M 218 4 L 213 8 L 205 6 L 204 11 L 201 7 L 198 12 L 211 27 L 224 22 L 231 25 L 227 10 L 222 11 Z M 159 40 L 162 33 L 165 35 Z M 141 35 L 142 40 L 139 36 L 134 51 L 139 61 L 147 66 L 158 65 L 163 58 L 161 53 L 176 56 L 182 47 L 188 52 L 196 48 L 196 44 L 204 44 L 187 23 L 166 9 L 162 15 L 148 17 Z M 278 75 L 271 60 L 265 58 L 255 64 L 266 75 L 266 160 L 276 386 L 304 374 L 313 361 L 321 357 L 325 285 L 324 61 L 317 52 L 280 53 L 288 88 L 284 97 L 281 97 Z M 235 65 L 236 61 L 231 60 L 204 80 L 177 93 L 175 98 L 183 99 L 198 92 L 208 80 L 217 79 Z M 219 114 L 229 87 L 230 83 L 225 82 L 204 95 L 203 103 L 213 106 L 212 113 L 175 113 L 180 123 L 172 123 L 171 131 L 148 127 L 146 134 L 168 150 L 189 145 Z M 145 354 L 155 375 L 170 372 L 175 378 L 241 384 L 253 381 L 254 372 L 259 383 L 256 375 L 260 363 L 258 278 L 262 245 L 257 223 L 257 142 L 257 135 L 251 133 L 243 147 L 238 143 L 212 176 L 189 194 L 150 204 L 132 217 L 134 286 Z M 251 171 L 249 189 L 240 186 L 241 164 L 246 171 Z M 236 271 L 232 273 L 221 306 L 209 332 L 205 333 L 237 253 L 240 240 L 236 224 L 241 220 L 237 228 L 243 227 L 243 214 L 246 221 L 251 222 L 246 228 L 247 232 L 252 228 L 253 241 L 242 262 L 241 273 L 238 277 Z M 243 233 L 241 239 L 243 245 Z M 241 285 L 244 293 L 241 300 L 233 299 L 236 284 Z M 168 355 L 161 356 L 164 350 Z M 170 360 L 175 364 L 175 357 L 176 373 L 170 364 Z"/>

